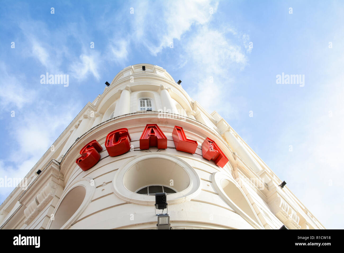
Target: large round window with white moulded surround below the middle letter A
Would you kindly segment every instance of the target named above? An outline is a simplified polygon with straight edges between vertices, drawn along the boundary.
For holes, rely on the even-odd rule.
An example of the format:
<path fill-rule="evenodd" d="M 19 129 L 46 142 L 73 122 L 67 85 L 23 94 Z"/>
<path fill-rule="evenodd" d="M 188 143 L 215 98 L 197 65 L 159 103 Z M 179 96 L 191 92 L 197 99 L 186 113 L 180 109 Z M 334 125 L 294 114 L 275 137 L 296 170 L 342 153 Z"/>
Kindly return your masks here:
<path fill-rule="evenodd" d="M 201 181 L 184 160 L 151 152 L 134 157 L 120 168 L 112 188 L 118 197 L 139 204 L 154 204 L 155 193 L 166 192 L 172 204 L 195 196 L 201 190 Z"/>

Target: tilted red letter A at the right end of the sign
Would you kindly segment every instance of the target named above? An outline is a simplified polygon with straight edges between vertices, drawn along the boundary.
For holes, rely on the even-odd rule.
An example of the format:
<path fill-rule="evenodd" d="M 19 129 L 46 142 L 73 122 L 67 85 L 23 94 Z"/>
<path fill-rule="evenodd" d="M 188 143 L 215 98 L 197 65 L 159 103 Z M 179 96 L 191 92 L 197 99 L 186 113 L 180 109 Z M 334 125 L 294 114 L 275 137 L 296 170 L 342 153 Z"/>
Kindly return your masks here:
<path fill-rule="evenodd" d="M 202 156 L 208 161 L 213 160 L 221 168 L 228 162 L 227 157 L 222 150 L 216 145 L 215 141 L 206 138 L 202 143 Z"/>

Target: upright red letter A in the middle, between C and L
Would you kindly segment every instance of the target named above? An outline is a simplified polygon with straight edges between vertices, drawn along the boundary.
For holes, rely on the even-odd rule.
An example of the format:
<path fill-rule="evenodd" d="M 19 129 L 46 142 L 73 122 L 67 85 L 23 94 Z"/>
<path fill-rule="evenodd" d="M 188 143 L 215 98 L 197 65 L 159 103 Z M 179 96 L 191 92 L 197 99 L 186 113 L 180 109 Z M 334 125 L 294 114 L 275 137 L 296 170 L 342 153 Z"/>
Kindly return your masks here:
<path fill-rule="evenodd" d="M 147 124 L 140 137 L 140 149 L 167 148 L 167 138 L 157 124 Z"/>

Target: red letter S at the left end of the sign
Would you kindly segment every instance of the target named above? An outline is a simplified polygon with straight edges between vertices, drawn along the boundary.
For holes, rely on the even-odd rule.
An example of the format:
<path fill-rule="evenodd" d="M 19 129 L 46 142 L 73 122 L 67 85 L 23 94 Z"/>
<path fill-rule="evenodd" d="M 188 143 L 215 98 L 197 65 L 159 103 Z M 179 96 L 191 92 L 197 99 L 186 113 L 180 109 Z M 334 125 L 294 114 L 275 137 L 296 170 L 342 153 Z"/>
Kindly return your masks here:
<path fill-rule="evenodd" d="M 99 152 L 101 150 L 103 150 L 103 148 L 99 145 L 98 141 L 90 141 L 80 150 L 81 157 L 76 159 L 76 164 L 84 171 L 92 168 L 99 161 Z"/>

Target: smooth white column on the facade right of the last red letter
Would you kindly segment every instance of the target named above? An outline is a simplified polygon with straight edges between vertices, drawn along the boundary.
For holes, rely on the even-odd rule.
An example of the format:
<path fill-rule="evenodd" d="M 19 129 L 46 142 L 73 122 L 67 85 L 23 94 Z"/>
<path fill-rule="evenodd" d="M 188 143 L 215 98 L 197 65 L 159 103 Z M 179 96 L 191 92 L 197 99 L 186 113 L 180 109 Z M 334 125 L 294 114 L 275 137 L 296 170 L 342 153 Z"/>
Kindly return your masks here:
<path fill-rule="evenodd" d="M 255 172 L 262 170 L 258 162 L 253 158 L 249 151 L 244 147 L 244 145 L 234 136 L 231 130 L 225 131 L 225 138 L 230 148 L 237 152 L 241 159 L 243 159 L 248 166 L 250 166 Z"/>

